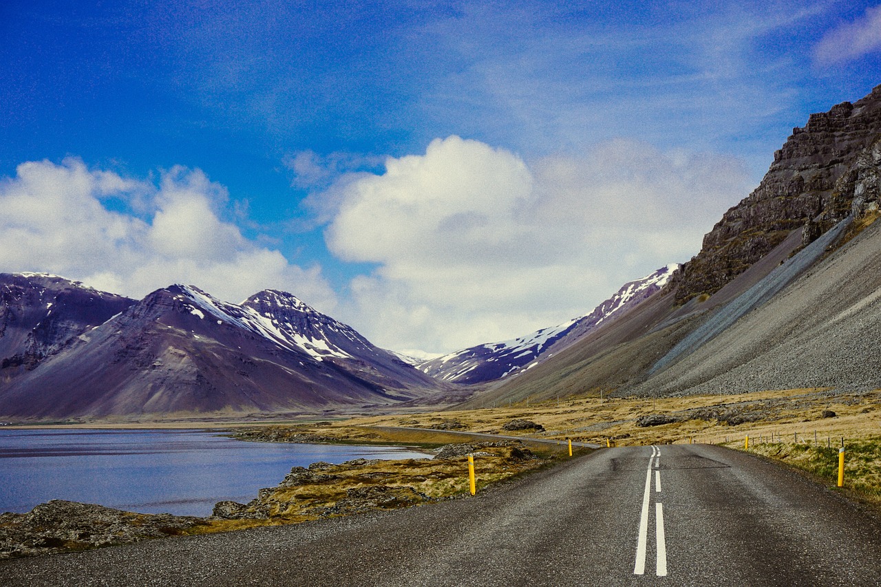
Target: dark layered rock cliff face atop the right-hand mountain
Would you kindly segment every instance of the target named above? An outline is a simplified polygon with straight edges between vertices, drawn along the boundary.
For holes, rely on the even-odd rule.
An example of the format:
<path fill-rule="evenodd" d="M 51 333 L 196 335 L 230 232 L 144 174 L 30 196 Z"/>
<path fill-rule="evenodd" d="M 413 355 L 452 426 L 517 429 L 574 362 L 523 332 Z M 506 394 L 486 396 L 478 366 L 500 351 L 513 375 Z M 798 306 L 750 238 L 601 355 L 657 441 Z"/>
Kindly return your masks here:
<path fill-rule="evenodd" d="M 676 301 L 714 294 L 796 229 L 803 243 L 840 219 L 877 208 L 881 85 L 793 129 L 759 187 L 729 209 L 673 279 Z"/>

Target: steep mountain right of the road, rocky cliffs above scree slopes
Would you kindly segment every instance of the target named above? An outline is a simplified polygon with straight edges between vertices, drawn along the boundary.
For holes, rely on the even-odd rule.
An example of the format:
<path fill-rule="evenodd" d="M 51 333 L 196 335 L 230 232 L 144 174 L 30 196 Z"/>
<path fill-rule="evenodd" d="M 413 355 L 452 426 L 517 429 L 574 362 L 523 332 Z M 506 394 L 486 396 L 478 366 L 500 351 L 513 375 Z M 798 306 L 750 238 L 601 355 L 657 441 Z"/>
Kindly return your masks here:
<path fill-rule="evenodd" d="M 460 407 L 881 387 L 881 86 L 793 130 L 663 290 Z"/>

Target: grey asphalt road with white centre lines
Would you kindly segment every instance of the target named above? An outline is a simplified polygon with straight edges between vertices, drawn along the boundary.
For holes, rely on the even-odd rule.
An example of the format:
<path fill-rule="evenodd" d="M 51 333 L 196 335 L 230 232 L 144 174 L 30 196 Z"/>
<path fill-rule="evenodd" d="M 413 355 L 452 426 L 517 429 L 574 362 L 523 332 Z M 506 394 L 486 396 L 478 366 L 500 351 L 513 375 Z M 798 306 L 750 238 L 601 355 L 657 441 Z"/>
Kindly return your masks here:
<path fill-rule="evenodd" d="M 4 587 L 469 584 L 881 585 L 881 522 L 758 457 L 647 446 L 414 509 L 0 562 Z"/>

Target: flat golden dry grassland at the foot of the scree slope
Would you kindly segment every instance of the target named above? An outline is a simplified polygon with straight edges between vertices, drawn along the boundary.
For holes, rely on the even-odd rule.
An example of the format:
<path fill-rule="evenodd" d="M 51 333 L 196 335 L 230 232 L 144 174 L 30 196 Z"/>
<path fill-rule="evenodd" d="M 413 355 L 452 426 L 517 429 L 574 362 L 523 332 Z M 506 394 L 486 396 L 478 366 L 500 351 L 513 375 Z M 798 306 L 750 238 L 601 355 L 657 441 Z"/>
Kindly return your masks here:
<path fill-rule="evenodd" d="M 687 411 L 734 412 L 755 421 L 731 426 L 714 418 L 691 416 Z M 832 410 L 835 418 L 822 418 Z M 655 427 L 639 427 L 637 418 L 652 413 L 682 416 L 683 420 Z M 515 419 L 534 420 L 544 433 L 502 430 Z M 722 396 L 683 398 L 580 398 L 471 411 L 426 412 L 355 418 L 314 428 L 322 434 L 344 435 L 359 442 L 393 441 L 387 430 L 376 427 L 432 427 L 443 421 L 462 424 L 461 431 L 516 435 L 530 438 L 595 442 L 612 439 L 618 446 L 674 442 L 741 442 L 744 436 L 800 436 L 817 432 L 818 438 L 864 438 L 881 431 L 881 392 L 845 394 L 832 390 L 774 390 Z M 313 429 L 313 428 L 310 428 Z M 434 434 L 434 433 L 432 433 Z M 427 436 L 426 436 L 427 437 Z"/>

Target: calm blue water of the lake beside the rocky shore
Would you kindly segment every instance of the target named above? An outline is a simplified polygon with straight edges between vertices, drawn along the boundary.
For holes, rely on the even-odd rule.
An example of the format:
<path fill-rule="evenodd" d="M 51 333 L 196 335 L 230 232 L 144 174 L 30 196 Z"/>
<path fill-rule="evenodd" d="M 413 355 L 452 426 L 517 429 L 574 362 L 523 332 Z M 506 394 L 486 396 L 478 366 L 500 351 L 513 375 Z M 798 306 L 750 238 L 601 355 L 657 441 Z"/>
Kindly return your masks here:
<path fill-rule="evenodd" d="M 51 499 L 180 516 L 247 503 L 293 466 L 352 458 L 423 458 L 406 449 L 241 442 L 196 430 L 0 429 L 0 512 Z"/>

